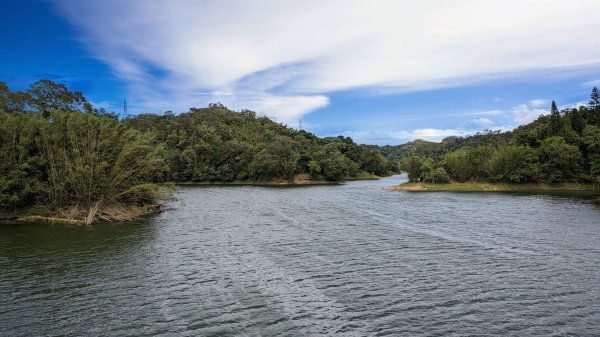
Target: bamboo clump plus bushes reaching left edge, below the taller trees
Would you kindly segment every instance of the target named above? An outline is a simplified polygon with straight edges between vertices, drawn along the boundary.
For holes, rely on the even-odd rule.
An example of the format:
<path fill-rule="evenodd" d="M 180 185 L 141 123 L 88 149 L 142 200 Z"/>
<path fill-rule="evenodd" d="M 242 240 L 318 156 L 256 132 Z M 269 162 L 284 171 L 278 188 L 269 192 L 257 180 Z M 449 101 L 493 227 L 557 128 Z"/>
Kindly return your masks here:
<path fill-rule="evenodd" d="M 149 135 L 112 118 L 0 113 L 0 207 L 153 202 L 167 167 Z"/>

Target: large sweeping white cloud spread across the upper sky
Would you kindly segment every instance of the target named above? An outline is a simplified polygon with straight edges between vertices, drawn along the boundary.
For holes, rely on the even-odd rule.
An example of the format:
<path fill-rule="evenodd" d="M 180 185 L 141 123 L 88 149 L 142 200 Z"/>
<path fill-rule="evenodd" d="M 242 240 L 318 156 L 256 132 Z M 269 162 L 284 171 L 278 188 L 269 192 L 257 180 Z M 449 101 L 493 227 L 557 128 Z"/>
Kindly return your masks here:
<path fill-rule="evenodd" d="M 323 95 L 333 91 L 459 86 L 600 60 L 597 0 L 58 0 L 58 7 L 144 108 L 162 110 L 228 97 L 234 108 L 272 109 L 292 121 L 325 106 Z"/>

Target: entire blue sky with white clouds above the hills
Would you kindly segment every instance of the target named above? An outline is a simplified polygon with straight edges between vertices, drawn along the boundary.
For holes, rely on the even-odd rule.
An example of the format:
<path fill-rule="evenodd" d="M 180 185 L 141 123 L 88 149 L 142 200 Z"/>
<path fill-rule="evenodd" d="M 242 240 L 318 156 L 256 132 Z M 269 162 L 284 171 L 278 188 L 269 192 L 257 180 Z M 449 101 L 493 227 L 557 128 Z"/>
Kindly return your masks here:
<path fill-rule="evenodd" d="M 600 85 L 598 0 L 0 0 L 0 81 L 129 114 L 221 102 L 318 136 L 510 130 Z"/>

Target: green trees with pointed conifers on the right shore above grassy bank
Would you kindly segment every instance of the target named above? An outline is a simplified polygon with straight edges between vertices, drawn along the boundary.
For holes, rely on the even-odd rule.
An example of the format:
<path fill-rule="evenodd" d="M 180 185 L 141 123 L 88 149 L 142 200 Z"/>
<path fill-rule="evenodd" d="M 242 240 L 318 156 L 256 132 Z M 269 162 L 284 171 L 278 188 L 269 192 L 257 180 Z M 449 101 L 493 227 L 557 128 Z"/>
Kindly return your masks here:
<path fill-rule="evenodd" d="M 487 131 L 383 147 L 412 182 L 596 183 L 600 180 L 600 94 L 587 107 L 551 113 L 512 132 Z"/>

